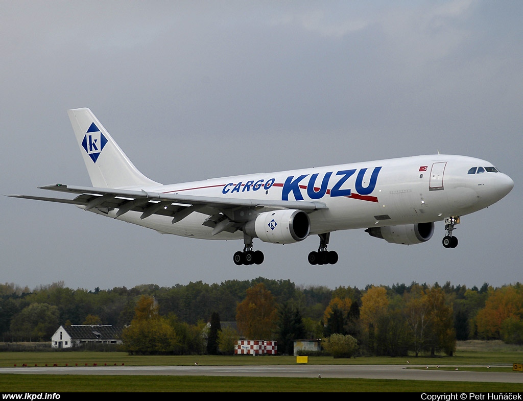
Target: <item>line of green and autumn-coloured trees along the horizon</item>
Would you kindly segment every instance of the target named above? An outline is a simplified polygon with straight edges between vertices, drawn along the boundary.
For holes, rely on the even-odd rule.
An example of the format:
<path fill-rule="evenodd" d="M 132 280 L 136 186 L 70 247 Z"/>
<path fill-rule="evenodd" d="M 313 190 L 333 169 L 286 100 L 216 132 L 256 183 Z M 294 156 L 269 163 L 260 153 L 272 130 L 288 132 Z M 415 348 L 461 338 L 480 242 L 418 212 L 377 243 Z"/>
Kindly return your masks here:
<path fill-rule="evenodd" d="M 279 352 L 290 353 L 294 339 L 336 334 L 353 337 L 361 354 L 451 355 L 456 340 L 523 343 L 523 288 L 520 283 L 499 288 L 485 283 L 478 289 L 413 282 L 332 290 L 262 277 L 93 291 L 73 290 L 63 282 L 33 290 L 0 284 L 4 341 L 49 341 L 67 324 L 128 326 L 135 336 L 149 330 L 160 336 L 154 340 L 164 347 L 159 352 L 171 353 L 230 352 L 240 337 L 278 340 Z"/>

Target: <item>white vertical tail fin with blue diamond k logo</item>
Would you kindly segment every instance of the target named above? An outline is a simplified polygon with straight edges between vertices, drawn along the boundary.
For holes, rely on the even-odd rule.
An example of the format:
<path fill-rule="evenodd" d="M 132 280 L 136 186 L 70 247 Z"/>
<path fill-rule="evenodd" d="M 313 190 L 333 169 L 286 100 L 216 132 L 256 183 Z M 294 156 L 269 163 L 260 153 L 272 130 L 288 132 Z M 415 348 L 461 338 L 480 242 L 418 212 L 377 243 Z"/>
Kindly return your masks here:
<path fill-rule="evenodd" d="M 89 178 L 97 188 L 161 185 L 145 177 L 87 108 L 67 110 Z"/>

